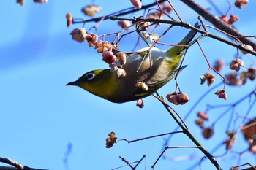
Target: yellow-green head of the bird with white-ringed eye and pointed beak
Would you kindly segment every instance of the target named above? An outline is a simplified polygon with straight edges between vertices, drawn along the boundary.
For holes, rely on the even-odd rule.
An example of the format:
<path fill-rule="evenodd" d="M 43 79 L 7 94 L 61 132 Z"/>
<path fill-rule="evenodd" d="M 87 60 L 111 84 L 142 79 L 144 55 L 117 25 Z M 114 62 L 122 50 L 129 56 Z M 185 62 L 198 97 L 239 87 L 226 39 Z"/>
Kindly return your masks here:
<path fill-rule="evenodd" d="M 113 85 L 116 84 L 115 76 L 110 69 L 98 69 L 83 74 L 75 82 L 69 82 L 67 85 L 75 85 L 84 90 L 93 93 L 99 97 L 108 99 L 114 93 Z"/>

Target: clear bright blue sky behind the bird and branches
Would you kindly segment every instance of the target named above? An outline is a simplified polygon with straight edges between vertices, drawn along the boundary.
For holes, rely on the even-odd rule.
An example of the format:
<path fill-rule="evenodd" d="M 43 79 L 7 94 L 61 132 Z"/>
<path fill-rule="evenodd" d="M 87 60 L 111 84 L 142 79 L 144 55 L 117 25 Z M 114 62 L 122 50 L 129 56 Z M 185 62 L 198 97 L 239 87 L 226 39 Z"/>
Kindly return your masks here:
<path fill-rule="evenodd" d="M 71 12 L 78 18 L 86 18 L 81 7 L 90 1 L 52 1 L 47 4 L 35 4 L 25 1 L 23 7 L 15 1 L 1 1 L 0 7 L 0 114 L 1 114 L 1 157 L 11 158 L 23 165 L 41 169 L 114 169 L 124 165 L 118 158 L 121 155 L 128 161 L 138 161 L 146 154 L 147 169 L 156 161 L 162 149 L 164 139 L 148 139 L 142 142 L 127 144 L 118 142 L 111 149 L 105 148 L 105 138 L 111 131 L 115 131 L 118 139 L 138 139 L 145 136 L 164 134 L 173 131 L 176 123 L 167 114 L 162 104 L 154 97 L 144 99 L 145 107 L 135 107 L 135 102 L 113 104 L 102 98 L 93 96 L 80 88 L 66 87 L 67 82 L 78 79 L 83 73 L 92 69 L 107 68 L 102 62 L 101 55 L 86 43 L 72 41 L 69 33 L 80 25 L 66 27 L 65 15 Z M 114 6 L 105 1 L 95 1 L 102 5 L 101 15 L 115 10 L 130 7 L 130 2 L 113 1 Z M 175 2 L 175 7 L 181 17 L 188 23 L 197 22 L 195 12 L 190 12 L 181 2 Z M 227 9 L 226 1 L 217 1 L 223 12 Z M 205 7 L 209 4 L 204 2 Z M 245 9 L 233 9 L 240 20 L 236 24 L 238 29 L 246 35 L 255 35 L 256 2 L 250 1 Z M 185 12 L 184 12 L 185 11 Z M 91 28 L 89 23 L 86 28 Z M 162 26 L 164 27 L 164 26 Z M 102 23 L 97 34 L 119 30 L 116 22 Z M 176 32 L 178 31 L 178 35 Z M 174 28 L 170 34 L 162 39 L 163 42 L 178 42 L 186 29 Z M 175 35 L 175 36 L 174 36 Z M 132 41 L 136 36 L 131 36 Z M 233 59 L 236 49 L 222 43 L 215 43 L 211 39 L 202 40 L 203 49 L 211 63 L 217 58 L 224 58 L 227 63 Z M 132 50 L 132 43 L 121 42 L 124 51 Z M 166 48 L 166 47 L 164 47 Z M 166 49 L 165 49 L 166 50 Z M 243 56 L 247 66 L 255 63 L 255 56 Z M 195 104 L 195 101 L 208 90 L 207 85 L 200 85 L 200 75 L 207 71 L 206 61 L 197 46 L 191 47 L 185 63 L 189 65 L 179 76 L 179 85 L 184 93 L 190 96 L 190 102 L 184 106 L 173 107 L 183 117 Z M 242 69 L 243 70 L 243 69 Z M 226 66 L 223 74 L 230 72 Z M 215 84 L 221 82 L 217 77 Z M 173 92 L 174 82 L 169 82 L 159 90 L 163 96 Z M 219 87 L 221 88 L 221 87 Z M 227 87 L 228 100 L 223 101 L 214 94 L 209 94 L 203 102 L 198 104 L 187 120 L 192 134 L 211 150 L 225 139 L 228 115 L 215 126 L 213 139 L 205 140 L 200 135 L 200 129 L 194 120 L 197 111 L 206 109 L 206 104 L 230 104 L 237 101 L 255 88 L 255 82 L 247 82 L 243 87 Z M 217 90 L 217 89 L 216 89 Z M 254 98 L 252 98 L 253 100 Z M 236 113 L 247 111 L 249 100 L 236 108 Z M 209 112 L 211 120 L 218 117 L 222 108 Z M 249 117 L 255 116 L 255 107 Z M 211 125 L 211 121 L 206 123 Z M 173 137 L 172 145 L 192 145 L 184 134 Z M 64 158 L 68 146 L 71 152 Z M 244 150 L 247 145 L 243 136 L 238 134 L 238 144 L 234 150 Z M 223 153 L 223 147 L 217 155 Z M 201 154 L 195 149 L 168 150 L 167 154 L 179 157 L 189 154 Z M 255 156 L 245 155 L 241 163 L 251 161 L 255 164 Z M 161 159 L 156 169 L 186 169 L 192 161 L 173 162 Z M 223 169 L 236 165 L 236 158 L 227 155 L 219 162 Z M 68 165 L 68 168 L 67 168 Z M 171 168 L 170 168 L 171 167 Z M 203 163 L 204 169 L 214 169 L 211 163 Z M 129 169 L 126 167 L 124 169 Z M 143 169 L 140 165 L 138 169 Z M 198 167 L 197 167 L 198 169 Z"/>

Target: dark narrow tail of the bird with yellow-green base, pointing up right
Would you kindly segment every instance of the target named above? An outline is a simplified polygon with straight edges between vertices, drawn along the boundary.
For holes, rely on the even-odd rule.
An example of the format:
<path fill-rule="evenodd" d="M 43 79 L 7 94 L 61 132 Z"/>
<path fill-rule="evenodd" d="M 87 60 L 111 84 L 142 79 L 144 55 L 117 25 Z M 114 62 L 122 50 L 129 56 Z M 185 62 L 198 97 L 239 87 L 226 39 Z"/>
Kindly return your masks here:
<path fill-rule="evenodd" d="M 200 28 L 200 24 L 195 23 L 195 27 L 196 28 Z M 187 36 L 184 37 L 184 39 L 181 40 L 181 42 L 178 43 L 178 45 L 188 45 L 189 42 L 192 41 L 192 39 L 194 38 L 195 34 L 197 34 L 197 31 L 195 30 L 191 30 L 189 31 L 189 33 L 187 34 Z M 170 48 L 170 50 L 167 50 L 167 54 L 171 54 L 172 56 L 178 56 L 178 55 L 182 55 L 181 52 L 183 52 L 184 47 L 172 47 Z M 174 55 L 176 54 L 176 55 Z M 181 57 L 181 56 L 180 56 Z"/>

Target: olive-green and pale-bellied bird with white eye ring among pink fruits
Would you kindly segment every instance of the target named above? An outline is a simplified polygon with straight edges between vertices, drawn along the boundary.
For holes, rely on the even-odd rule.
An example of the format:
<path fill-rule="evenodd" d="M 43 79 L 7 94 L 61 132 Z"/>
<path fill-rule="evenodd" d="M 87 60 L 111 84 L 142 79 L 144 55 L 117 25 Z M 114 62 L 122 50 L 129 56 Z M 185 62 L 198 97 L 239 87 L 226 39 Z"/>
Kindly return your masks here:
<path fill-rule="evenodd" d="M 196 23 L 195 27 L 200 28 L 200 25 Z M 178 45 L 188 45 L 195 34 L 197 31 L 189 31 Z M 113 103 L 136 101 L 150 96 L 186 68 L 177 69 L 185 49 L 184 46 L 173 46 L 162 51 L 157 47 L 145 47 L 127 57 L 121 68 L 126 72 L 124 77 L 118 77 L 118 69 L 97 69 L 67 85 L 78 86 Z"/>

